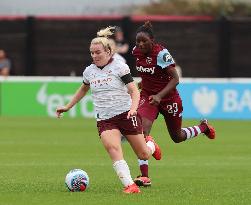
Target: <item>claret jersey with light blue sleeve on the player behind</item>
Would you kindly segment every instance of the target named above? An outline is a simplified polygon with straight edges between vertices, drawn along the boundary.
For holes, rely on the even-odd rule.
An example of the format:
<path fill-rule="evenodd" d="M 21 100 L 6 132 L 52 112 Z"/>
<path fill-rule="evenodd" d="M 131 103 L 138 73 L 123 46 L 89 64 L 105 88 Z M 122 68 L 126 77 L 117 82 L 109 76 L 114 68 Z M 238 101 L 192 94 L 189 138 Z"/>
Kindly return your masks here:
<path fill-rule="evenodd" d="M 175 66 L 169 51 L 160 44 L 154 44 L 152 52 L 146 56 L 134 47 L 132 51 L 136 60 L 136 69 L 142 78 L 142 93 L 155 95 L 160 92 L 171 80 L 166 69 Z M 177 90 L 169 93 L 165 98 L 178 94 Z"/>

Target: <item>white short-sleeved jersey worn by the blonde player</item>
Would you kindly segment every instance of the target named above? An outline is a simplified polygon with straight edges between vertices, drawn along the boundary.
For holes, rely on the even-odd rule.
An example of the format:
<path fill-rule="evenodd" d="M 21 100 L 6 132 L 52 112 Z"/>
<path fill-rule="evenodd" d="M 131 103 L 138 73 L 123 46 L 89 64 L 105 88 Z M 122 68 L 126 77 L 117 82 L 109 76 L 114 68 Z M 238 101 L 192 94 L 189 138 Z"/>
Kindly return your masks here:
<path fill-rule="evenodd" d="M 116 59 L 102 69 L 95 64 L 86 67 L 83 82 L 90 85 L 97 121 L 130 110 L 131 96 L 121 80 L 128 73 L 128 65 Z"/>

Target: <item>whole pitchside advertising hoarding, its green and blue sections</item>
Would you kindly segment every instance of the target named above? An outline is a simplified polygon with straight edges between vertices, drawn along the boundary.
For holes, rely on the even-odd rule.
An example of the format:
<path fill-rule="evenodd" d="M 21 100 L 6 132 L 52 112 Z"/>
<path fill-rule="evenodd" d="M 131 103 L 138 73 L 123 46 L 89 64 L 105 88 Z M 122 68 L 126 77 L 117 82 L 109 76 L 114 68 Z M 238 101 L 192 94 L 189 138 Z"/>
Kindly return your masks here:
<path fill-rule="evenodd" d="M 81 77 L 0 76 L 0 115 L 56 117 L 56 108 L 68 103 L 81 84 Z M 182 116 L 184 119 L 250 119 L 250 85 L 250 78 L 182 78 L 178 87 L 185 99 Z M 94 118 L 90 93 L 64 116 Z"/>

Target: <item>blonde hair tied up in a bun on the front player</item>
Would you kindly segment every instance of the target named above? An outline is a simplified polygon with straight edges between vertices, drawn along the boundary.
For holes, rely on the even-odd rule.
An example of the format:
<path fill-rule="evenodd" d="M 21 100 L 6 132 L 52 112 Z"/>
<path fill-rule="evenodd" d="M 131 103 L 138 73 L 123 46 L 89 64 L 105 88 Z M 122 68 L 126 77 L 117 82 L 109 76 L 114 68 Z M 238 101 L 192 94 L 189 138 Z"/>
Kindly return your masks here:
<path fill-rule="evenodd" d="M 105 50 L 110 50 L 111 55 L 116 52 L 116 44 L 112 39 L 115 27 L 108 26 L 97 32 L 97 37 L 92 39 L 91 44 L 102 44 Z"/>

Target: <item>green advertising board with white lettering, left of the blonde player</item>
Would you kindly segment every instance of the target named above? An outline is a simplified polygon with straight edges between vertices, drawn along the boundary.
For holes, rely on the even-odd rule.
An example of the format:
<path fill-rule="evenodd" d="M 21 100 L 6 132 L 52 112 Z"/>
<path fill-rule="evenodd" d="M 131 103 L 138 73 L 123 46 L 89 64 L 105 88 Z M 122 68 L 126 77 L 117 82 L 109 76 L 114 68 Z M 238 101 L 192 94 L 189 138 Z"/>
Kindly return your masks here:
<path fill-rule="evenodd" d="M 56 108 L 69 102 L 82 83 L 79 79 L 75 81 L 2 81 L 1 115 L 55 117 Z M 64 116 L 93 118 L 94 108 L 90 94 Z"/>

